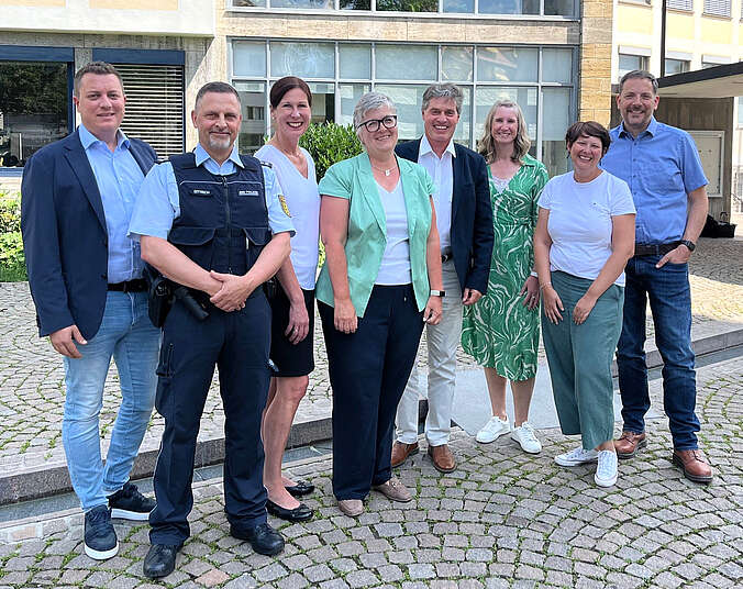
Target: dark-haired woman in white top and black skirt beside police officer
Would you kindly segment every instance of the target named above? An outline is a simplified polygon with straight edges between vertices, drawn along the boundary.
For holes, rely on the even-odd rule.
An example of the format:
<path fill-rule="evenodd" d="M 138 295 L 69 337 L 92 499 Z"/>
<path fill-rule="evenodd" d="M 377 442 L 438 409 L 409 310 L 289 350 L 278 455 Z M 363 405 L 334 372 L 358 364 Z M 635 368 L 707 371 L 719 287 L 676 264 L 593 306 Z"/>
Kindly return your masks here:
<path fill-rule="evenodd" d="M 295 413 L 314 369 L 314 278 L 318 269 L 320 195 L 314 162 L 299 146 L 311 119 L 312 92 L 307 82 L 288 76 L 271 87 L 270 116 L 274 136 L 255 156 L 269 162 L 281 185 L 284 201 L 297 230 L 291 256 L 279 269 L 279 287 L 271 297 L 270 357 L 276 365 L 263 421 L 266 453 L 263 482 L 266 509 L 288 521 L 312 518 L 312 510 L 296 497 L 314 490 L 311 484 L 281 476 L 281 458 Z"/>

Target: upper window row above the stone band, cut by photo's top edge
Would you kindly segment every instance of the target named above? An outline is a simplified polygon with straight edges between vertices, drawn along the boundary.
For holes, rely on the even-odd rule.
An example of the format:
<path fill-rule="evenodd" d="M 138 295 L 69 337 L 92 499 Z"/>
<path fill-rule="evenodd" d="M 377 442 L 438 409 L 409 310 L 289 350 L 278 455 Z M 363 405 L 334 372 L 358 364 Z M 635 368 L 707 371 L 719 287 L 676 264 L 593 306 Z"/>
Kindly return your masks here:
<path fill-rule="evenodd" d="M 373 12 L 574 16 L 577 2 L 576 0 L 228 0 L 228 7 L 237 10 L 365 10 Z"/>

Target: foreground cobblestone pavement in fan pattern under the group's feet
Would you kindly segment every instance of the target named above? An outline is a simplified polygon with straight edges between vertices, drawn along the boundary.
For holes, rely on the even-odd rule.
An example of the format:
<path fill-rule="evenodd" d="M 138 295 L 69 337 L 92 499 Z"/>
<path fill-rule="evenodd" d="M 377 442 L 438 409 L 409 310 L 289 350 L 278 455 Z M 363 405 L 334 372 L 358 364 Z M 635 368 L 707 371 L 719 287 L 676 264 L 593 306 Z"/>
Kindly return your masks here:
<path fill-rule="evenodd" d="M 509 440 L 484 446 L 455 435 L 459 467 L 447 476 L 424 453 L 398 469 L 410 503 L 372 492 L 357 520 L 331 493 L 330 458 L 290 468 L 318 491 L 318 515 L 280 526 L 280 556 L 260 556 L 228 534 L 220 481 L 199 484 L 192 536 L 162 585 L 142 577 L 147 526 L 117 522 L 119 555 L 82 553 L 79 510 L 0 529 L 0 589 L 21 587 L 348 588 L 743 586 L 743 357 L 699 369 L 701 443 L 716 469 L 699 486 L 670 465 L 666 421 L 648 424 L 648 446 L 620 464 L 602 489 L 592 467 L 561 468 L 553 457 L 576 444 L 541 432 L 526 455 Z M 652 384 L 659 403 L 659 381 Z M 21 538 L 27 538 L 21 541 Z"/>

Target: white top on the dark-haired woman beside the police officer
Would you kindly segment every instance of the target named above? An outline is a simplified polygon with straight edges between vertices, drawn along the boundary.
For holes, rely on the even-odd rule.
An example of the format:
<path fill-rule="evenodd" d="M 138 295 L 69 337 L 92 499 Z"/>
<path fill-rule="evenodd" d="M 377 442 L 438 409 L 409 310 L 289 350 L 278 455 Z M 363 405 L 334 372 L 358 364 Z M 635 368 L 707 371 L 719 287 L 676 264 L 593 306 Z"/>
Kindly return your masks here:
<path fill-rule="evenodd" d="M 273 145 L 264 145 L 255 157 L 270 162 L 287 200 L 291 221 L 297 233 L 291 237 L 291 264 L 299 286 L 304 290 L 314 288 L 318 271 L 320 243 L 320 192 L 315 178 L 314 162 L 307 149 L 300 147 L 307 158 L 307 178 L 289 158 Z"/>

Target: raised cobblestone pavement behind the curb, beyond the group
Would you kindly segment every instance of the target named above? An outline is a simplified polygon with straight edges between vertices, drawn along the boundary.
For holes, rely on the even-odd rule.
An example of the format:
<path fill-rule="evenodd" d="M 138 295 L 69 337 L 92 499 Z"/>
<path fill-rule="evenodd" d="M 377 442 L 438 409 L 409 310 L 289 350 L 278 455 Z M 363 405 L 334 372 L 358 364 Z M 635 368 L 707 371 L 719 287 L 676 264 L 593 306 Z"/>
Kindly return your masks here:
<path fill-rule="evenodd" d="M 743 240 L 701 240 L 692 256 L 694 329 L 709 335 L 716 329 L 743 326 Z M 320 321 L 314 334 L 317 368 L 296 422 L 326 418 L 331 412 L 330 381 Z M 652 324 L 648 324 L 648 345 Z M 425 364 L 424 355 L 419 356 Z M 475 367 L 459 349 L 459 368 Z M 111 367 L 101 412 L 104 449 L 120 402 L 118 375 Z M 0 476 L 65 464 L 60 422 L 64 403 L 62 357 L 37 336 L 27 285 L 0 284 Z M 156 449 L 163 421 L 154 415 L 142 449 Z M 223 412 L 217 384 L 212 387 L 199 440 L 223 436 Z"/>

